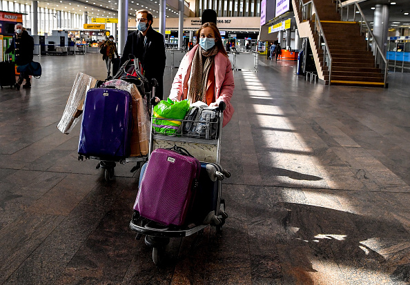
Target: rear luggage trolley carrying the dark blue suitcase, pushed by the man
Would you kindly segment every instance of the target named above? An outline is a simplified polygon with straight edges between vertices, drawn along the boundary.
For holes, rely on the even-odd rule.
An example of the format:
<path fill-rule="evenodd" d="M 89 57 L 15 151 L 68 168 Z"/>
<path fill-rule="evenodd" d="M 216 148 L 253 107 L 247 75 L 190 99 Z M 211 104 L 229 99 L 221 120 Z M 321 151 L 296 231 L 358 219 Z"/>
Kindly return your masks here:
<path fill-rule="evenodd" d="M 130 75 L 129 74 L 129 69 L 135 70 L 135 75 Z M 128 71 L 127 71 L 128 70 Z M 143 75 L 142 72 L 139 70 L 139 63 L 137 59 L 134 59 L 133 56 L 130 56 L 130 59 L 126 61 L 121 68 L 119 68 L 117 74 L 113 79 L 121 79 L 123 81 L 127 81 L 128 83 L 134 83 L 135 86 L 138 88 L 139 92 L 141 93 L 142 97 L 146 97 L 147 101 L 148 98 L 154 97 L 155 96 L 155 87 L 158 85 L 157 81 L 155 79 L 152 80 L 152 82 L 149 82 L 148 79 L 146 79 Z M 104 81 L 99 81 L 97 83 L 96 87 L 101 86 L 104 83 Z M 113 87 L 104 87 L 104 88 L 113 88 Z M 150 88 L 148 92 L 146 92 L 146 88 Z M 148 104 L 146 106 L 148 107 Z M 148 109 L 149 110 L 149 109 Z M 126 164 L 126 163 L 135 163 L 135 166 L 130 170 L 131 173 L 134 173 L 136 170 L 138 170 L 141 167 L 141 164 L 144 163 L 145 161 L 148 160 L 148 155 L 141 155 L 138 157 L 99 157 L 99 156 L 93 156 L 93 155 L 79 155 L 78 160 L 84 160 L 86 159 L 96 159 L 99 160 L 97 166 L 95 167 L 96 169 L 99 169 L 100 167 L 104 169 L 104 178 L 106 181 L 110 181 L 114 177 L 114 168 L 117 166 L 117 162 L 119 164 Z"/>

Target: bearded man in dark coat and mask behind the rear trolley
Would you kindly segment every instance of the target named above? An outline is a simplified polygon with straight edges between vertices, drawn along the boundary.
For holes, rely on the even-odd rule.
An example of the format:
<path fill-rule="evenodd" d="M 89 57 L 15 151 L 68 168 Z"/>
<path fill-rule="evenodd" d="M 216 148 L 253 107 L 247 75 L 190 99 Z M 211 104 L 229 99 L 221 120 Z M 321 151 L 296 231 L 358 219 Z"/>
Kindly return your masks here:
<path fill-rule="evenodd" d="M 162 99 L 164 93 L 163 77 L 165 69 L 164 36 L 152 28 L 153 14 L 147 10 L 137 11 L 137 28 L 131 32 L 124 46 L 121 65 L 128 60 L 128 55 L 134 55 L 141 63 L 144 76 L 151 80 L 157 79 L 158 87 L 155 96 Z"/>

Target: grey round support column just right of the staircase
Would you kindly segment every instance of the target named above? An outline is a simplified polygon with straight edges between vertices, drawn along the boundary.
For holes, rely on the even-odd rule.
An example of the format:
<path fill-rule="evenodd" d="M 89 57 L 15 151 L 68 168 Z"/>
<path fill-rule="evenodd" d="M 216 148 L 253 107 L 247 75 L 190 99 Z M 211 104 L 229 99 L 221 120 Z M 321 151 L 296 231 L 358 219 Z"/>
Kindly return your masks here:
<path fill-rule="evenodd" d="M 377 41 L 383 55 L 387 52 L 387 36 L 389 35 L 389 6 L 378 4 L 375 6 L 373 18 L 373 35 Z M 375 48 L 373 48 L 373 55 L 375 55 Z M 378 58 L 378 63 L 381 59 Z"/>

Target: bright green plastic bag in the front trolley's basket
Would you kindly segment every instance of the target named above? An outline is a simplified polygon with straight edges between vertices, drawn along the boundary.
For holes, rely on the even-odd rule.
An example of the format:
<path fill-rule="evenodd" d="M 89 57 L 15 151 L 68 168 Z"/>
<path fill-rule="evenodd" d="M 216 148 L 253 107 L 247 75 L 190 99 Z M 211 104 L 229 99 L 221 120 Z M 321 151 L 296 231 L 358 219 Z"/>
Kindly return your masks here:
<path fill-rule="evenodd" d="M 153 127 L 155 132 L 164 132 L 167 134 L 175 134 L 181 126 L 182 122 L 177 120 L 162 120 L 162 119 L 184 119 L 186 112 L 188 112 L 188 100 L 173 101 L 167 99 L 162 100 L 154 107 Z"/>

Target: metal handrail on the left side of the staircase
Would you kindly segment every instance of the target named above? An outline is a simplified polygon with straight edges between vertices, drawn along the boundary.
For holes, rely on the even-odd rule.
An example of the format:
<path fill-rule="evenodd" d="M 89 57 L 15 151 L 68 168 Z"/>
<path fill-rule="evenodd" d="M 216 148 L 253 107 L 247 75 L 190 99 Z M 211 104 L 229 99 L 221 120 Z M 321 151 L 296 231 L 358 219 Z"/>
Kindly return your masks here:
<path fill-rule="evenodd" d="M 311 7 L 313 7 L 314 10 L 314 14 L 315 14 L 315 30 L 313 32 L 318 33 L 319 35 L 319 48 L 322 48 L 322 37 L 323 37 L 323 43 L 324 43 L 324 51 L 323 51 L 323 64 L 326 64 L 326 52 L 327 52 L 327 56 L 329 57 L 329 85 L 331 85 L 331 75 L 332 75 L 332 56 L 329 50 L 329 46 L 327 44 L 326 41 L 326 37 L 324 36 L 324 31 L 322 28 L 322 23 L 320 23 L 320 19 L 319 19 L 319 15 L 318 15 L 318 10 L 316 9 L 315 3 L 313 3 L 313 0 L 308 1 L 306 3 L 303 3 L 302 0 L 299 0 L 299 10 L 302 12 L 302 21 L 303 20 L 307 20 L 307 12 L 308 12 L 308 8 L 309 5 L 311 5 Z M 313 10 L 310 10 L 310 16 L 309 16 L 309 20 L 312 21 L 312 15 L 313 15 Z M 316 23 L 318 23 L 319 26 L 319 32 L 318 32 L 318 26 L 316 26 Z M 313 34 L 314 35 L 314 34 Z M 325 80 L 326 81 L 326 80 Z"/>

